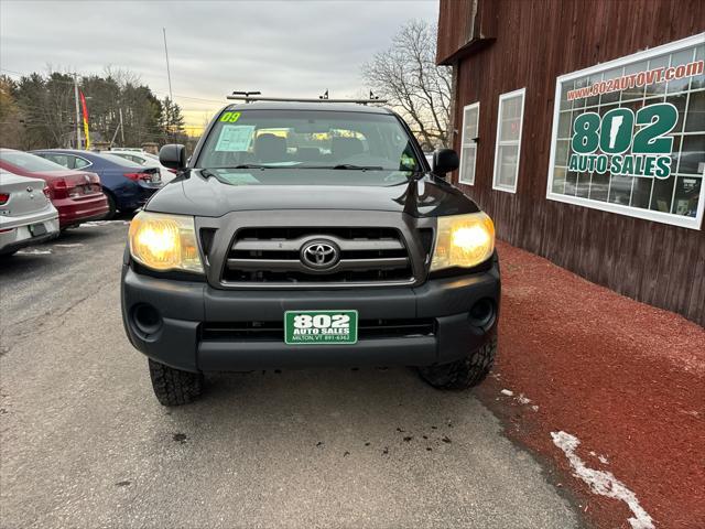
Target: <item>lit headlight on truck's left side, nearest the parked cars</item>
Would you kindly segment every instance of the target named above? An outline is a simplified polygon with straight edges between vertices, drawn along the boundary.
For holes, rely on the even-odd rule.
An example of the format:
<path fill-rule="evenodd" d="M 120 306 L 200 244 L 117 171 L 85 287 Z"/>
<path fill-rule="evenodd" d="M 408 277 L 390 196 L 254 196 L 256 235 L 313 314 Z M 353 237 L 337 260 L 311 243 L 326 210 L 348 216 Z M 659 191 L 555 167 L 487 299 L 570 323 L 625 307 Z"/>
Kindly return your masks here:
<path fill-rule="evenodd" d="M 204 271 L 194 217 L 140 212 L 130 224 L 130 255 L 152 270 Z"/>

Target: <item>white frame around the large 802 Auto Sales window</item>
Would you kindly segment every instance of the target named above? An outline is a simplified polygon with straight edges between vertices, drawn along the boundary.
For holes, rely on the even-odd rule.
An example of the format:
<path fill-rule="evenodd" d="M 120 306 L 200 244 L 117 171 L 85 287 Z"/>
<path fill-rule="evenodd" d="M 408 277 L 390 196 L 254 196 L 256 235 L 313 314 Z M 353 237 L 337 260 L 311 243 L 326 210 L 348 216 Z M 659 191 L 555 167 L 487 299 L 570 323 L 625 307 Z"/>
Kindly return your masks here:
<path fill-rule="evenodd" d="M 697 203 L 697 213 L 695 217 L 686 217 L 682 215 L 675 215 L 672 213 L 655 212 L 652 209 L 642 209 L 639 207 L 625 206 L 621 204 L 615 204 L 610 202 L 592 201 L 582 196 L 562 195 L 560 193 L 553 193 L 553 173 L 555 166 L 555 148 L 557 144 L 558 134 L 558 118 L 561 114 L 561 86 L 563 83 L 578 79 L 596 73 L 608 72 L 616 67 L 626 66 L 632 63 L 649 60 L 666 53 L 676 53 L 687 47 L 694 47 L 703 43 L 705 40 L 705 33 L 688 36 L 680 41 L 670 42 L 661 46 L 644 50 L 643 52 L 632 53 L 623 57 L 608 61 L 606 63 L 596 64 L 588 68 L 572 72 L 570 74 L 561 75 L 555 79 L 555 97 L 553 99 L 553 128 L 551 130 L 551 156 L 549 159 L 549 176 L 546 179 L 546 198 L 549 201 L 563 202 L 566 204 L 574 204 L 577 206 L 589 207 L 590 209 L 600 209 L 603 212 L 616 213 L 627 217 L 642 218 L 644 220 L 651 220 L 654 223 L 669 224 L 671 226 L 680 226 L 688 229 L 701 229 L 703 223 L 703 215 L 705 212 L 705 175 L 701 182 L 701 196 Z M 673 187 L 675 190 L 677 182 L 674 182 Z"/>

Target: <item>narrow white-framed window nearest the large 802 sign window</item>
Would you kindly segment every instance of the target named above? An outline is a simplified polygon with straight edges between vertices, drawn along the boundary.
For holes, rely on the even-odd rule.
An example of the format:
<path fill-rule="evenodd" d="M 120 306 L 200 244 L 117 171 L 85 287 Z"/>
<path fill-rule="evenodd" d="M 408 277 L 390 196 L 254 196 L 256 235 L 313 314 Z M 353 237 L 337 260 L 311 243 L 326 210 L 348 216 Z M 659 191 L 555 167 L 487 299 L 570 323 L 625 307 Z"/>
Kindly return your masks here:
<path fill-rule="evenodd" d="M 499 96 L 494 190 L 517 192 L 525 91 L 522 88 Z"/>

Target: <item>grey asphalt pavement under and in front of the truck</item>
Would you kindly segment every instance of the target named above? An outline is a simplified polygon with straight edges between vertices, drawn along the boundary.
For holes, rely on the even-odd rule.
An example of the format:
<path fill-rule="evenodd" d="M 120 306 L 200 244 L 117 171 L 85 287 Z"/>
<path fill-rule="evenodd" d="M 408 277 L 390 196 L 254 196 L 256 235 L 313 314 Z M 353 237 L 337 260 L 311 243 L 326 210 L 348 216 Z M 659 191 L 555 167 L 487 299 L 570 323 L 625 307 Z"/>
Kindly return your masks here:
<path fill-rule="evenodd" d="M 223 374 L 161 407 L 122 331 L 127 224 L 0 263 L 2 527 L 582 527 L 471 392 L 408 369 Z"/>

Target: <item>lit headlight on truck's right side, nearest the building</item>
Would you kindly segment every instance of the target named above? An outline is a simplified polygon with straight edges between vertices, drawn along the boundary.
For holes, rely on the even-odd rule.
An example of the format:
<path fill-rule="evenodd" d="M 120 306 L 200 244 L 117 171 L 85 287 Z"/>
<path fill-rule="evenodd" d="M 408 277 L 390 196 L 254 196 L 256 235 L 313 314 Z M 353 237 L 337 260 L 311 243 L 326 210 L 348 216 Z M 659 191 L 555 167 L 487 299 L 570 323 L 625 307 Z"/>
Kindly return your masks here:
<path fill-rule="evenodd" d="M 438 217 L 431 271 L 471 268 L 489 259 L 494 251 L 495 225 L 484 213 Z"/>

